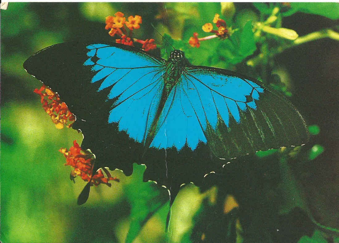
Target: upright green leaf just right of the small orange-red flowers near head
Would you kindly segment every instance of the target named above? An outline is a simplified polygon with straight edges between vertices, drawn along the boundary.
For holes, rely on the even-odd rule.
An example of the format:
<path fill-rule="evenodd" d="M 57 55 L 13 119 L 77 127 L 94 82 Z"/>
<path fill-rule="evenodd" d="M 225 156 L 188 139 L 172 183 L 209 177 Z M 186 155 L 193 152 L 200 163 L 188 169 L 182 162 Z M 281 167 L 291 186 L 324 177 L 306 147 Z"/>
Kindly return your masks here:
<path fill-rule="evenodd" d="M 252 31 L 252 21 L 248 21 L 241 32 L 239 54 L 243 57 L 252 55 L 257 49 Z"/>

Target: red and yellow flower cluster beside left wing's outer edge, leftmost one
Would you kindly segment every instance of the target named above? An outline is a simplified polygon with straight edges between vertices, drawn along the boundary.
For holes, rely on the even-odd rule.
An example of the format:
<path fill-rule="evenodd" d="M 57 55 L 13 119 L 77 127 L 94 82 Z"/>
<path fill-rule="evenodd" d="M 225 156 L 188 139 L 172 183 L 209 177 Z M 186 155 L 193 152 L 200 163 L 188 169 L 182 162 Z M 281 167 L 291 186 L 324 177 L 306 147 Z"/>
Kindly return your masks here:
<path fill-rule="evenodd" d="M 42 85 L 40 89 L 34 89 L 41 97 L 41 104 L 45 112 L 51 117 L 56 128 L 62 129 L 64 125 L 71 127 L 75 116 L 68 110 L 65 102 L 61 102 L 59 95 Z"/>

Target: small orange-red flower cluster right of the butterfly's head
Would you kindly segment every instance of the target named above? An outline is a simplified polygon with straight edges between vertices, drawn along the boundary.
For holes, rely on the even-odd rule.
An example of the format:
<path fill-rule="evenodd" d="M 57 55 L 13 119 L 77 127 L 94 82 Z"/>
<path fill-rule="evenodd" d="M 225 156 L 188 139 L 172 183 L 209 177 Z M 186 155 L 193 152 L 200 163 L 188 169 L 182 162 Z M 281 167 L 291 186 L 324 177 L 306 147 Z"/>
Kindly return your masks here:
<path fill-rule="evenodd" d="M 193 33 L 193 37 L 190 37 L 190 39 L 188 40 L 188 44 L 190 44 L 190 46 L 192 47 L 199 47 L 200 46 L 200 41 L 204 41 L 204 40 L 210 40 L 213 38 L 226 38 L 229 36 L 228 33 L 228 29 L 226 28 L 226 22 L 223 19 L 219 18 L 219 14 L 215 14 L 214 19 L 213 19 L 213 23 L 216 24 L 216 26 L 218 27 L 218 30 L 214 30 L 213 29 L 213 25 L 211 23 L 206 23 L 202 26 L 202 30 L 204 32 L 210 32 L 213 33 L 214 35 L 211 36 L 206 36 L 203 38 L 198 38 L 198 33 L 194 32 Z"/>

